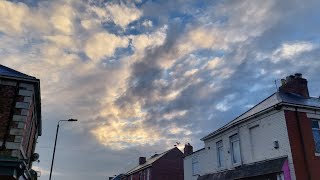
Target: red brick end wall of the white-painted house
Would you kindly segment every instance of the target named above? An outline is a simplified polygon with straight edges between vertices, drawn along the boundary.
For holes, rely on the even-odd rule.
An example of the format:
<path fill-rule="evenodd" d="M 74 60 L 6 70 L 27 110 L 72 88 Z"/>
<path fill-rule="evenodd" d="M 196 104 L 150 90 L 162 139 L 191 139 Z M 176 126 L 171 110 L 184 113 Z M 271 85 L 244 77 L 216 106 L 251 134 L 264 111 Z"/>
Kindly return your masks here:
<path fill-rule="evenodd" d="M 285 111 L 285 117 L 288 127 L 288 135 L 296 179 L 308 180 L 308 174 L 310 174 L 311 180 L 319 180 L 320 157 L 315 156 L 315 144 L 310 119 L 308 119 L 306 113 L 298 113 L 300 130 L 302 134 L 301 139 L 296 112 Z"/>

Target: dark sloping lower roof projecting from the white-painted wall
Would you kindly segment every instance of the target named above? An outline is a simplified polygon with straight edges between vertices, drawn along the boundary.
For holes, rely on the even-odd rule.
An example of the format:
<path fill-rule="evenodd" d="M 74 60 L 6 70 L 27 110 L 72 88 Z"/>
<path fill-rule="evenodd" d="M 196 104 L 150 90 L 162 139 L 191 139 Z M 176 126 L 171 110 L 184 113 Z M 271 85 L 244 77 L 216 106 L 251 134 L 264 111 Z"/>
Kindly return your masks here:
<path fill-rule="evenodd" d="M 287 157 L 246 164 L 234 170 L 224 172 L 206 174 L 198 177 L 197 180 L 233 180 L 247 179 L 262 175 L 274 174 L 282 171 L 282 167 Z"/>

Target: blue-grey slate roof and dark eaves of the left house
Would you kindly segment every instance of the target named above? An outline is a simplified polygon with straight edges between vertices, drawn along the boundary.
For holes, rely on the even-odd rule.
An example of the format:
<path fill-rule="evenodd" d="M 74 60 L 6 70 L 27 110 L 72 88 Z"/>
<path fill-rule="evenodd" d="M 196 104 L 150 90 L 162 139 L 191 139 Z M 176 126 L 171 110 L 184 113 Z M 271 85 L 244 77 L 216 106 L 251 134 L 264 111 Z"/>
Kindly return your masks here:
<path fill-rule="evenodd" d="M 36 109 L 38 119 L 38 135 L 42 134 L 40 80 L 0 64 L 0 77 L 18 81 L 31 82 L 35 86 Z"/>

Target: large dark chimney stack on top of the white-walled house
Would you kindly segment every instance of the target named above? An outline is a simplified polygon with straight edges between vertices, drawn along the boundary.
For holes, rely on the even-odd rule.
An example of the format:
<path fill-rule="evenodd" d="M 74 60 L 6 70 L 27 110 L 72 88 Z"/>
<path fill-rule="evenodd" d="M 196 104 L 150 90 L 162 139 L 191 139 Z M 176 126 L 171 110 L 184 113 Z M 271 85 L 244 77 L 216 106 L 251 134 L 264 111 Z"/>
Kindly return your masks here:
<path fill-rule="evenodd" d="M 308 81 L 302 78 L 302 74 L 296 73 L 290 75 L 286 79 L 281 79 L 280 92 L 294 93 L 305 98 L 309 98 Z"/>

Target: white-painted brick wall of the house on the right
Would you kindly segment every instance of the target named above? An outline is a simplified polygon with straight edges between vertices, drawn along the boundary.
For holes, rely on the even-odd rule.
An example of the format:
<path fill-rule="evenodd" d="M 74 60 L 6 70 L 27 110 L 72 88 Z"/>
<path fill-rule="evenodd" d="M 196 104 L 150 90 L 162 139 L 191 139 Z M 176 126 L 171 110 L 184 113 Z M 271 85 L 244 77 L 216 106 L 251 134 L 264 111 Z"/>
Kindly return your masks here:
<path fill-rule="evenodd" d="M 222 134 L 206 140 L 205 149 L 199 156 L 201 174 L 216 173 L 233 169 L 231 160 L 229 137 L 239 133 L 242 164 L 251 164 L 257 161 L 274 159 L 288 156 L 289 168 L 292 180 L 295 180 L 292 154 L 290 149 L 289 137 L 283 111 L 272 111 L 257 118 L 239 124 Z M 224 167 L 218 168 L 216 142 L 223 141 Z M 279 142 L 279 148 L 274 148 L 274 141 Z M 192 177 L 192 157 L 184 160 L 185 180 L 195 180 Z M 191 169 L 190 169 L 191 168 Z M 190 171 L 191 170 L 191 171 Z M 191 175 L 191 176 L 190 176 Z"/>

